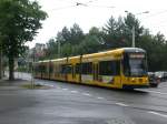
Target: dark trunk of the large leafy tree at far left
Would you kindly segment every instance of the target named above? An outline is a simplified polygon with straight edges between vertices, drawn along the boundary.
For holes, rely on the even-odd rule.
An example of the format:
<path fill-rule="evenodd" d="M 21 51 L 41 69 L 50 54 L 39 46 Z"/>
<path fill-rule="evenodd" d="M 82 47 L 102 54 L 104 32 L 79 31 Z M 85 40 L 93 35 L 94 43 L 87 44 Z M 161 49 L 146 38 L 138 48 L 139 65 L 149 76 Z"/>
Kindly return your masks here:
<path fill-rule="evenodd" d="M 9 80 L 14 80 L 14 59 L 13 58 L 9 58 Z"/>

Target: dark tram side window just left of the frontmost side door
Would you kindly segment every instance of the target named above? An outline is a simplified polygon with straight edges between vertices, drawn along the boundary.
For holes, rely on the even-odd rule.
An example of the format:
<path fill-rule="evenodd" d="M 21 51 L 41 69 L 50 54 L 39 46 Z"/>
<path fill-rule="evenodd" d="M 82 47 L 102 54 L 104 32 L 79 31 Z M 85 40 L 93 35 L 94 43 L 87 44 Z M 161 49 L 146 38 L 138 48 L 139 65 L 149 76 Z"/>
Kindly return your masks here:
<path fill-rule="evenodd" d="M 92 63 L 82 63 L 81 64 L 81 73 L 82 74 L 91 74 L 92 73 Z"/>

